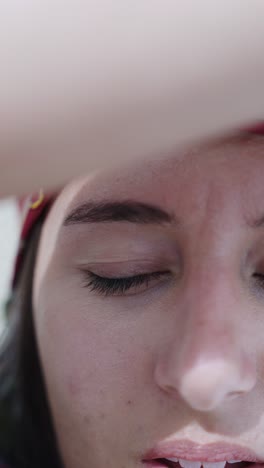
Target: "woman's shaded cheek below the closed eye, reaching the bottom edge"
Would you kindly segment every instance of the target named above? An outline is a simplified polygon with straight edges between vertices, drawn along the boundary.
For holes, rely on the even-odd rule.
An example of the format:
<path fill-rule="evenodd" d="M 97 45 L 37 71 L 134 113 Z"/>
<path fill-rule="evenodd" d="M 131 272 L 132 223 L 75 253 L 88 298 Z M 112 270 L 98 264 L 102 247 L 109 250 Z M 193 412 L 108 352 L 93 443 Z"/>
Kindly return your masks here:
<path fill-rule="evenodd" d="M 35 311 L 37 340 L 65 466 L 128 466 L 147 437 L 142 419 L 153 419 L 138 326 L 107 318 L 69 290 L 44 297 Z"/>

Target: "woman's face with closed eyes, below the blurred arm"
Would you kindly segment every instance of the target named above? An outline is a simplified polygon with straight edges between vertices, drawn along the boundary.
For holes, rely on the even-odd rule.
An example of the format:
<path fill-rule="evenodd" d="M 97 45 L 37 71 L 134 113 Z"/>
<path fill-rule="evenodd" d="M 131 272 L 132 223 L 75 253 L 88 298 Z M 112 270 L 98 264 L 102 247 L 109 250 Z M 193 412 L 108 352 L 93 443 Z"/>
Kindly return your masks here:
<path fill-rule="evenodd" d="M 201 446 L 219 442 L 264 461 L 263 140 L 66 186 L 34 316 L 66 468 L 206 461 Z"/>

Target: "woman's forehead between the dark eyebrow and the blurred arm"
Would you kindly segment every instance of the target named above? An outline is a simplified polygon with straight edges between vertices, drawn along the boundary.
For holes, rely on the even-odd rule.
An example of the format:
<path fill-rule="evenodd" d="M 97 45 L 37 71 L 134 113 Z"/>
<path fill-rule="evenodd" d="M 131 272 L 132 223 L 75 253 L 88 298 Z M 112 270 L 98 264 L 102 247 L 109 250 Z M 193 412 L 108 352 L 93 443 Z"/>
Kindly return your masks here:
<path fill-rule="evenodd" d="M 208 190 L 239 190 L 240 196 L 262 191 L 264 139 L 228 141 L 178 151 L 154 161 L 99 170 L 76 179 L 61 194 L 65 210 L 93 200 L 133 198 L 163 206 L 192 194 L 203 198 Z M 252 186 L 254 184 L 254 187 Z M 183 194 L 185 193 L 185 197 Z M 258 195 L 256 193 L 256 195 Z"/>

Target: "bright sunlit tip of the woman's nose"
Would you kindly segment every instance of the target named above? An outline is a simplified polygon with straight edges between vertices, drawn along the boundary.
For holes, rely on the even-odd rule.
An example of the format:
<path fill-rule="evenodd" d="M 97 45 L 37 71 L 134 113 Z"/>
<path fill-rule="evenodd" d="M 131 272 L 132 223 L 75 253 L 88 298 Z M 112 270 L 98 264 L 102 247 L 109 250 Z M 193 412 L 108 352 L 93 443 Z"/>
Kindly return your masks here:
<path fill-rule="evenodd" d="M 225 400 L 249 392 L 255 385 L 250 373 L 239 374 L 238 368 L 223 360 L 197 364 L 180 381 L 179 393 L 193 409 L 211 411 Z"/>

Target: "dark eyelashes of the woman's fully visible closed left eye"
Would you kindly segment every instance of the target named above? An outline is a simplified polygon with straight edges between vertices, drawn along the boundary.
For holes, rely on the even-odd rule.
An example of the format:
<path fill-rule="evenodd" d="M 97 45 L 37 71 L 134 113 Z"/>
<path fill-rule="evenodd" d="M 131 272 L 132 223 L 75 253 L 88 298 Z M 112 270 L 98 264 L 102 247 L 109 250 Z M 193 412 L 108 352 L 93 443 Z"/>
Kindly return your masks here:
<path fill-rule="evenodd" d="M 129 291 L 132 287 L 139 287 L 145 284 L 147 289 L 150 280 L 159 279 L 165 274 L 168 275 L 168 273 L 168 271 L 157 271 L 154 273 L 123 278 L 106 278 L 95 275 L 91 271 L 84 271 L 84 287 L 105 297 L 114 295 L 122 296 L 125 295 L 126 291 Z"/>

